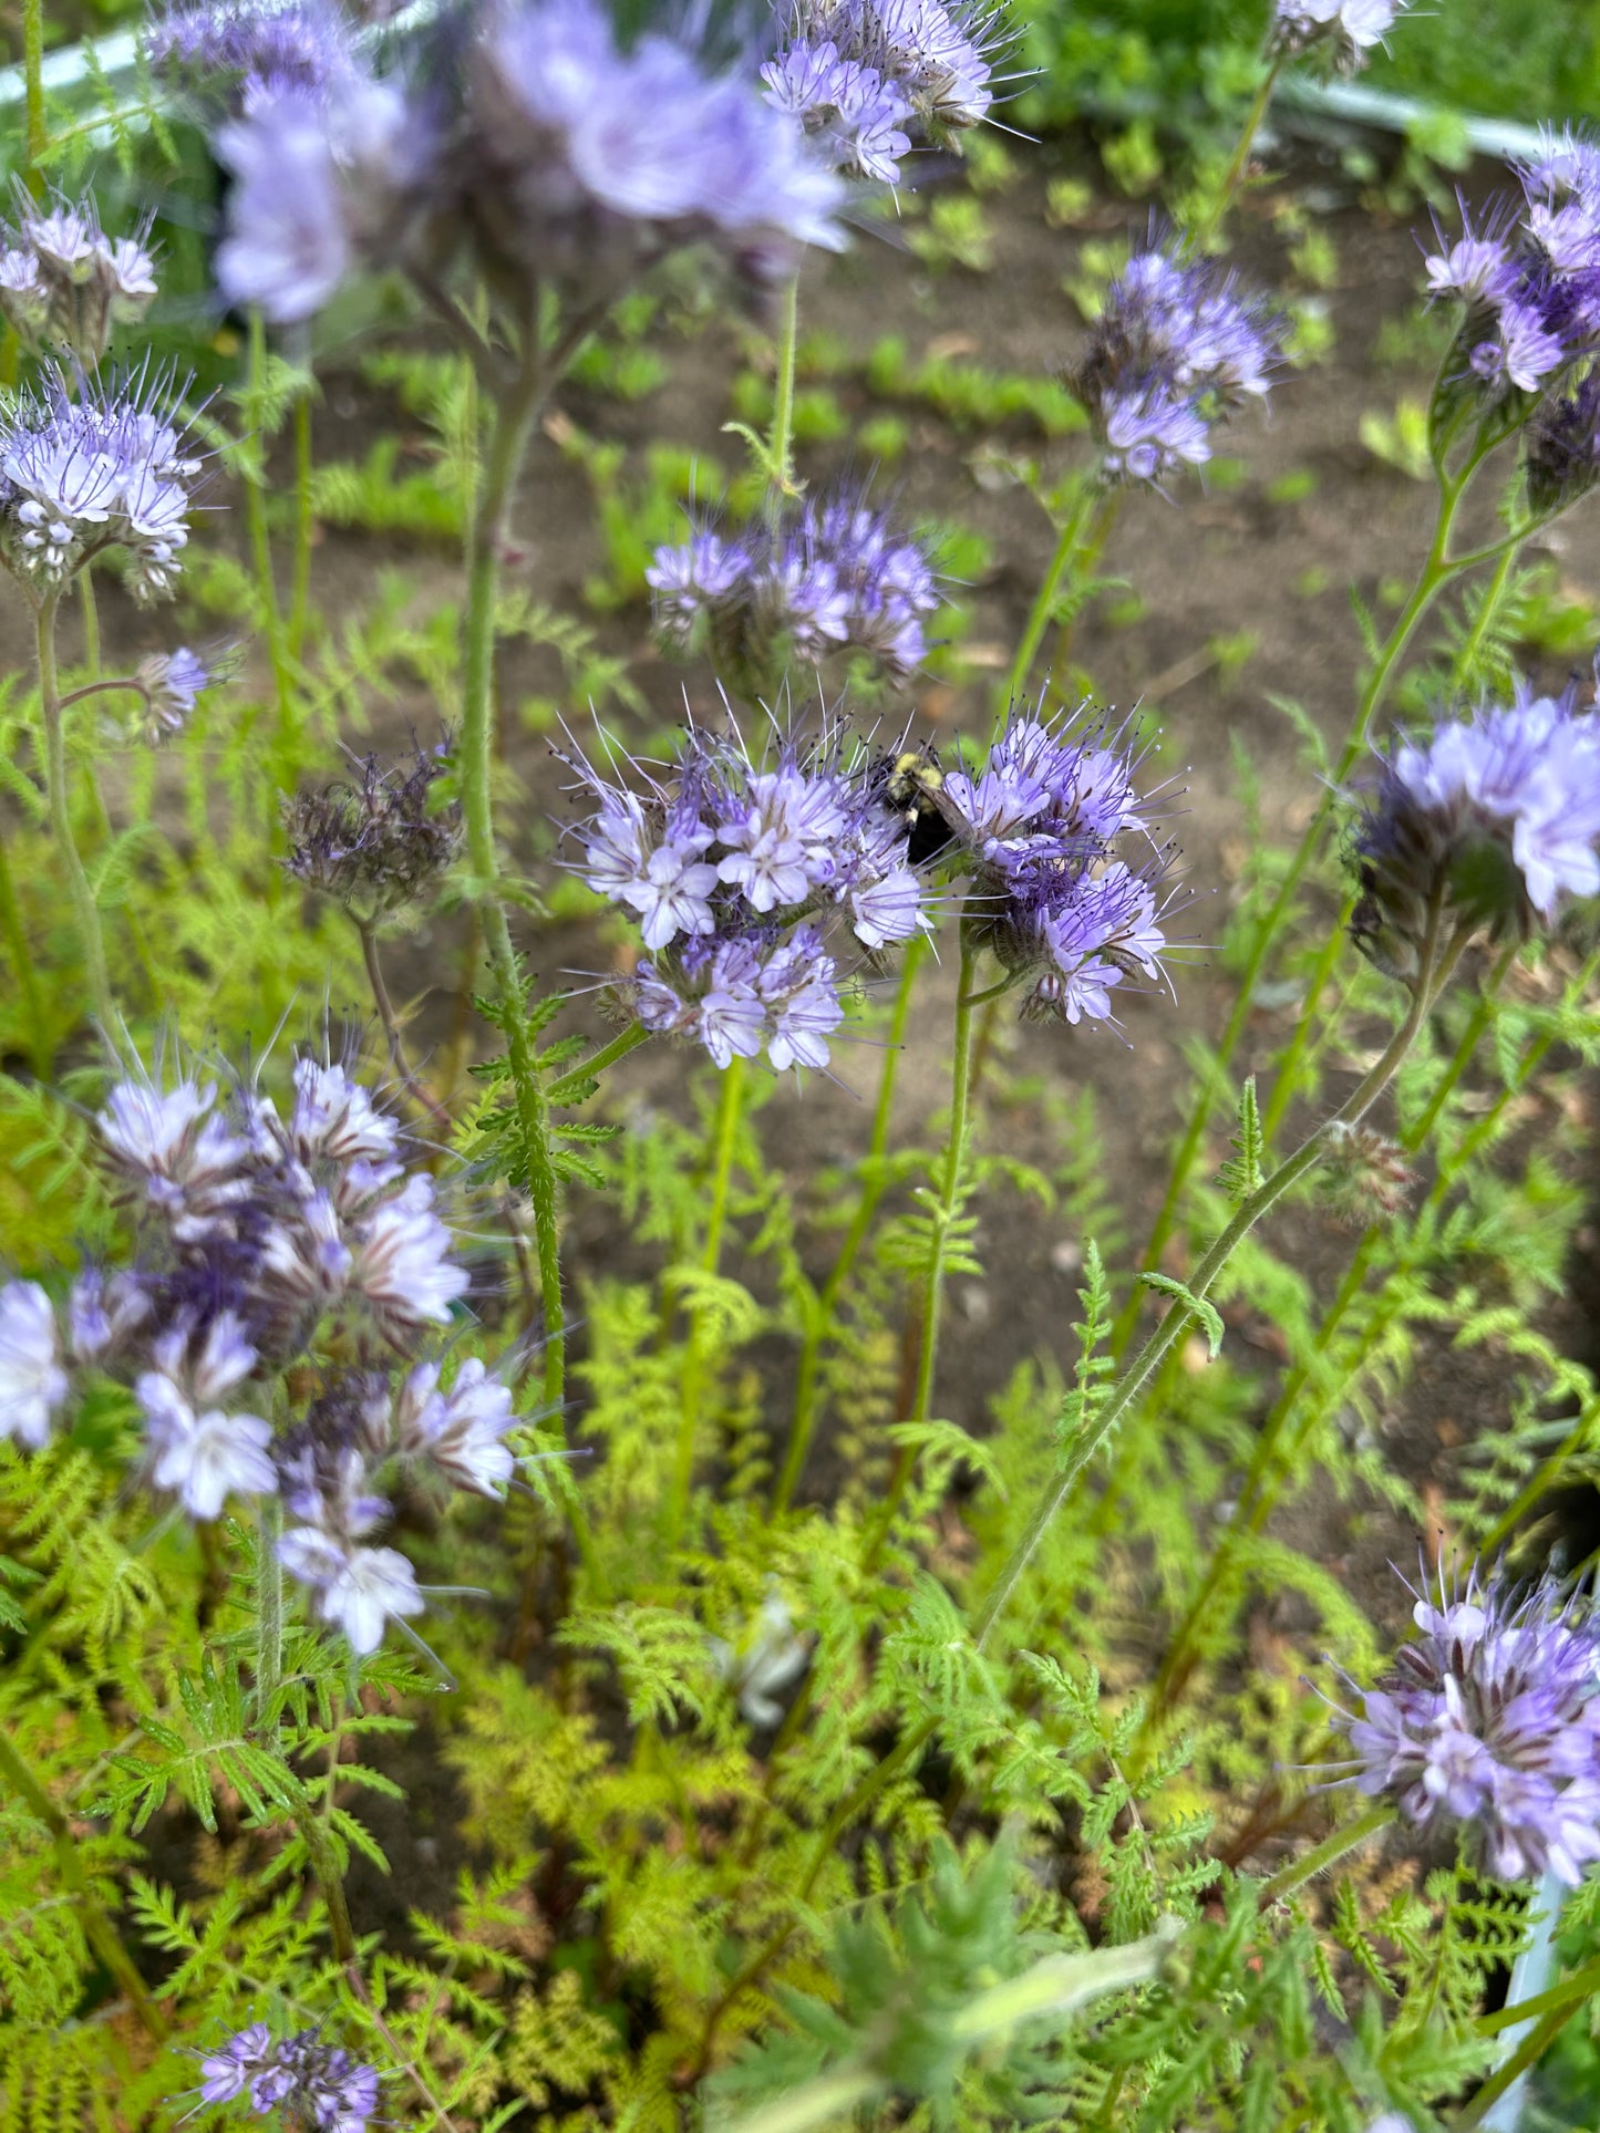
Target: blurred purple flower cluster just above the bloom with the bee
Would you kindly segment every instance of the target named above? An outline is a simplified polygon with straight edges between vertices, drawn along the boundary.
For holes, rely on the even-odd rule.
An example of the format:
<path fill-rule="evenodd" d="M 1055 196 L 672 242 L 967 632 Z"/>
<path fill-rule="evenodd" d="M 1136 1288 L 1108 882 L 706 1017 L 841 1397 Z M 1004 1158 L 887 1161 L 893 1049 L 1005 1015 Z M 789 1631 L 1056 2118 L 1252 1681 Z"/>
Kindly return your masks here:
<path fill-rule="evenodd" d="M 770 695 L 789 665 L 858 653 L 907 680 L 928 651 L 939 587 L 922 546 L 845 491 L 779 525 L 698 529 L 644 572 L 655 636 L 706 651 L 727 680 Z"/>

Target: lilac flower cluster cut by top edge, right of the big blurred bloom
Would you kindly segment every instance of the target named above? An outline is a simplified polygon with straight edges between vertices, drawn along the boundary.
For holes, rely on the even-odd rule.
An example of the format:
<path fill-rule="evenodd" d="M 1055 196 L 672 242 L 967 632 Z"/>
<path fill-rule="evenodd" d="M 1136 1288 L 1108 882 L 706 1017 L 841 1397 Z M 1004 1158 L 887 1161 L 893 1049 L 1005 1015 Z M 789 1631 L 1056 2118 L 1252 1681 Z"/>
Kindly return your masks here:
<path fill-rule="evenodd" d="M 981 0 L 798 0 L 762 79 L 841 171 L 894 186 L 913 139 L 954 147 L 988 117 L 1005 41 Z"/>

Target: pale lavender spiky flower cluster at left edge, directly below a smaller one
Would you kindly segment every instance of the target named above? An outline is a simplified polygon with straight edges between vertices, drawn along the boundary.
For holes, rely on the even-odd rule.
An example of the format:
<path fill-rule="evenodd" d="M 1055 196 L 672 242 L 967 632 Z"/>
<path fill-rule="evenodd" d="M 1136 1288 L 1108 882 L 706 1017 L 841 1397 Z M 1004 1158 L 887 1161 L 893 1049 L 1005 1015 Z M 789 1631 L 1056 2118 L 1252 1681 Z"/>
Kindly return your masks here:
<path fill-rule="evenodd" d="M 171 595 L 201 459 L 162 410 L 166 373 L 19 395 L 0 418 L 0 559 L 34 599 L 105 548 L 128 557 L 134 599 Z"/>

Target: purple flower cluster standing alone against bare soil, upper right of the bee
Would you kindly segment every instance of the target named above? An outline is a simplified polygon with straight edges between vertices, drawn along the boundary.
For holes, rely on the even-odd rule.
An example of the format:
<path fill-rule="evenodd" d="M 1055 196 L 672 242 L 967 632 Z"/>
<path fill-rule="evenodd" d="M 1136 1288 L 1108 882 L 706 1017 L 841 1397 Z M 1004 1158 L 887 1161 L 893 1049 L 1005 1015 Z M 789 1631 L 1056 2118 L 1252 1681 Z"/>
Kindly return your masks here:
<path fill-rule="evenodd" d="M 1214 427 L 1265 399 L 1278 326 L 1212 260 L 1135 252 L 1065 373 L 1101 442 L 1105 482 L 1161 482 L 1212 456 Z"/>

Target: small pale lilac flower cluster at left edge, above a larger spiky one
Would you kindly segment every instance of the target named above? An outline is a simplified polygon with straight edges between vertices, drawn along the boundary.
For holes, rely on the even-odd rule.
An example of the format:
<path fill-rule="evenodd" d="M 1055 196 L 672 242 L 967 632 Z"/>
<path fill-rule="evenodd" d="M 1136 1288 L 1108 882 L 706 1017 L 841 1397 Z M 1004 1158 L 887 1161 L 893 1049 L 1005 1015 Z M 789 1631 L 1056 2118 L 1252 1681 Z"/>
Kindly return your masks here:
<path fill-rule="evenodd" d="M 0 224 L 0 314 L 28 348 L 94 369 L 113 331 L 137 324 L 156 296 L 145 237 L 107 237 L 94 201 L 19 190 L 17 220 Z"/>

